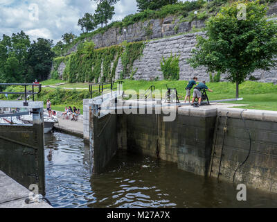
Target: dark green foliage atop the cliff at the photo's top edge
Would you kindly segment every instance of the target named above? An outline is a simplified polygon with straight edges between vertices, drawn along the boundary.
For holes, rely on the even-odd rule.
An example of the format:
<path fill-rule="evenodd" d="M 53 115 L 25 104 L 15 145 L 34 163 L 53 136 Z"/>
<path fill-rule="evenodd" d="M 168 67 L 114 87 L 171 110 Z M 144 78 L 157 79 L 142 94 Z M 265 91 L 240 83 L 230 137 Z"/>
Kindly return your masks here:
<path fill-rule="evenodd" d="M 139 12 L 146 9 L 157 10 L 163 6 L 175 4 L 178 0 L 136 0 L 136 6 Z"/>

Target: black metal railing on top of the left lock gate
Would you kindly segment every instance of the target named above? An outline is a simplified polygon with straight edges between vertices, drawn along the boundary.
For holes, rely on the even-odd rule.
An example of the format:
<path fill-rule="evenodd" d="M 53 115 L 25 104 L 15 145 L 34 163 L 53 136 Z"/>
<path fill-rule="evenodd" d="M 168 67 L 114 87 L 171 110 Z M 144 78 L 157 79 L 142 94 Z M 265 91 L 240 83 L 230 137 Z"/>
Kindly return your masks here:
<path fill-rule="evenodd" d="M 14 94 L 14 95 L 24 95 L 25 96 L 25 103 L 24 106 L 28 106 L 28 95 L 33 95 L 33 101 L 35 101 L 35 95 L 42 92 L 42 84 L 36 84 L 36 83 L 0 83 L 1 86 L 24 86 L 24 92 L 0 92 L 0 94 Z M 27 87 L 32 86 L 32 91 L 27 91 Z M 35 87 L 38 87 L 38 92 L 35 92 Z"/>

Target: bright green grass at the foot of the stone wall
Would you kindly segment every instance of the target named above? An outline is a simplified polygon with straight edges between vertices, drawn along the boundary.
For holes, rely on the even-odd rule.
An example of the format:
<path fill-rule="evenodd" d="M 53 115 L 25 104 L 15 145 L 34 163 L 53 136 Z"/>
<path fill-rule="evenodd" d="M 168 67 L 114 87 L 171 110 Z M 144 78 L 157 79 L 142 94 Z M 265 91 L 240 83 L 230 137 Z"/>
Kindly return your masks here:
<path fill-rule="evenodd" d="M 184 88 L 186 87 L 187 83 L 187 81 L 183 80 L 161 80 L 153 82 L 146 80 L 124 80 L 123 88 L 124 90 L 134 89 L 137 93 L 139 93 L 140 89 L 148 89 L 148 87 L 150 87 L 151 85 L 154 85 L 156 89 L 166 89 L 166 84 L 168 84 L 168 87 L 177 88 L 180 98 L 183 100 L 185 96 Z M 42 84 L 49 85 L 49 82 L 42 82 Z M 235 98 L 235 84 L 233 83 L 207 83 L 207 85 L 214 90 L 213 93 L 208 92 L 210 100 Z M 88 85 L 85 83 L 70 84 L 70 86 L 85 88 L 88 87 Z M 62 85 L 60 87 L 65 86 Z M 66 87 L 69 87 L 69 85 L 66 84 Z M 244 82 L 240 85 L 240 97 L 243 97 L 244 100 L 236 101 L 233 103 L 248 104 L 247 106 L 244 106 L 242 108 L 277 111 L 277 85 L 274 85 L 272 83 L 256 83 L 252 81 Z M 62 111 L 64 110 L 64 104 L 71 105 L 72 103 L 76 104 L 78 107 L 81 106 L 81 101 L 76 100 L 75 102 L 72 102 L 71 100 L 71 103 L 67 103 L 66 101 L 64 101 L 63 104 L 55 105 L 53 106 L 53 108 Z"/>

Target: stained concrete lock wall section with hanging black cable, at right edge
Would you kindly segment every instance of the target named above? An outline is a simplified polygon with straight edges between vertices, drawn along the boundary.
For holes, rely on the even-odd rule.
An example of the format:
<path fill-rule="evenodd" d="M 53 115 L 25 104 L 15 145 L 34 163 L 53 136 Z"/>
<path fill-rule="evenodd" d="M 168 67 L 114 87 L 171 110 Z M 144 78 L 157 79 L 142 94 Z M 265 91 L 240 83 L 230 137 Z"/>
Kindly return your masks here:
<path fill-rule="evenodd" d="M 218 110 L 220 118 L 213 144 L 215 155 L 211 162 L 212 176 L 233 181 L 237 169 L 235 183 L 277 193 L 277 112 L 242 111 Z M 227 124 L 226 115 L 228 115 Z M 226 135 L 223 139 L 225 124 Z M 246 160 L 247 155 L 249 155 L 247 162 L 238 168 Z"/>

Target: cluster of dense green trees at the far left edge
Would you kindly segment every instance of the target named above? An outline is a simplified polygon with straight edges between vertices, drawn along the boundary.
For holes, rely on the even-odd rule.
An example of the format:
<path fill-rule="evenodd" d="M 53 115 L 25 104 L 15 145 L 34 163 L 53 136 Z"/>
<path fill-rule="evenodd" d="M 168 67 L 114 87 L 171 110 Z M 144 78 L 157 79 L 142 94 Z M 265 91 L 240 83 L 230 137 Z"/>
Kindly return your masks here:
<path fill-rule="evenodd" d="M 51 51 L 52 40 L 37 39 L 30 42 L 23 31 L 3 35 L 0 40 L 0 82 L 33 83 L 45 80 L 51 70 L 55 53 Z"/>

